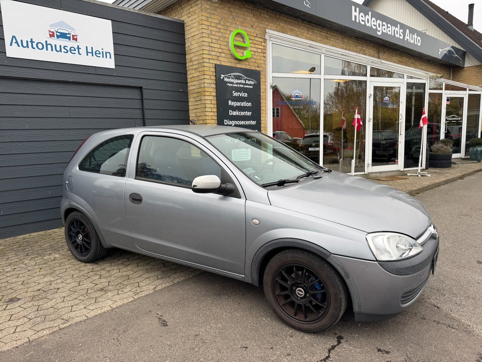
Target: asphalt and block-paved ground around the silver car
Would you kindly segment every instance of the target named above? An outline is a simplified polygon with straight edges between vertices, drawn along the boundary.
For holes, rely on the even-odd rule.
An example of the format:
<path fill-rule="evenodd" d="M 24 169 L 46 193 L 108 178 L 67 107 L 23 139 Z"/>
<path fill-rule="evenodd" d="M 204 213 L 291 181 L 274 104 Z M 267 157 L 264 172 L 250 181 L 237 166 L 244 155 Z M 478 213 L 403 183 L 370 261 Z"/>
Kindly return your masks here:
<path fill-rule="evenodd" d="M 83 264 L 57 229 L 0 240 L 0 357 L 480 362 L 482 173 L 457 166 L 450 184 L 418 196 L 441 235 L 439 263 L 421 299 L 393 319 L 355 323 L 347 312 L 325 333 L 298 332 L 261 289 L 119 250 Z M 387 183 L 430 189 L 438 171 Z"/>

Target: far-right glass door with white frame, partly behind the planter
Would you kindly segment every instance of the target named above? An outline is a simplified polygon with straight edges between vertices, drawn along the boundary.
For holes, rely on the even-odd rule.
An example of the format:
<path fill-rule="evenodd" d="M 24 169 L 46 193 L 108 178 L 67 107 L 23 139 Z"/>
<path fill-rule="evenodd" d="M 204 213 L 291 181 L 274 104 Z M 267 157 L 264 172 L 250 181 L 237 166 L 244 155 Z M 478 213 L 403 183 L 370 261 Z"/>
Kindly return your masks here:
<path fill-rule="evenodd" d="M 453 141 L 452 157 L 460 158 L 465 154 L 465 132 L 462 130 L 465 97 L 446 97 L 445 138 Z"/>

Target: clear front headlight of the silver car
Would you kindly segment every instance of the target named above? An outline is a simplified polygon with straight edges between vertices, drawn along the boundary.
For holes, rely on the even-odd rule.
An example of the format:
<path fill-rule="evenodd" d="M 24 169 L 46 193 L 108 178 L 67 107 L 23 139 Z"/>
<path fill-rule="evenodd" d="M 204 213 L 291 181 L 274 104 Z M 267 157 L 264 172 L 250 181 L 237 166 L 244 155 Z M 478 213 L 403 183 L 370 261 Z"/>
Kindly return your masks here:
<path fill-rule="evenodd" d="M 367 241 L 377 260 L 400 260 L 417 255 L 423 250 L 407 235 L 380 232 L 367 234 Z"/>

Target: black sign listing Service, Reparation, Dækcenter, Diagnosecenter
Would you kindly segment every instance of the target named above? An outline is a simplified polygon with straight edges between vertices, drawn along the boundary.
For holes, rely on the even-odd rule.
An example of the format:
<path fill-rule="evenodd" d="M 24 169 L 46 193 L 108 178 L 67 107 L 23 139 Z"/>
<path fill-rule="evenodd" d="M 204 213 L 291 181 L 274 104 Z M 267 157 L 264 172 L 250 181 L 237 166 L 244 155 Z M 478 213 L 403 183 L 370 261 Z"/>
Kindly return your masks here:
<path fill-rule="evenodd" d="M 261 72 L 216 64 L 217 124 L 261 131 Z"/>

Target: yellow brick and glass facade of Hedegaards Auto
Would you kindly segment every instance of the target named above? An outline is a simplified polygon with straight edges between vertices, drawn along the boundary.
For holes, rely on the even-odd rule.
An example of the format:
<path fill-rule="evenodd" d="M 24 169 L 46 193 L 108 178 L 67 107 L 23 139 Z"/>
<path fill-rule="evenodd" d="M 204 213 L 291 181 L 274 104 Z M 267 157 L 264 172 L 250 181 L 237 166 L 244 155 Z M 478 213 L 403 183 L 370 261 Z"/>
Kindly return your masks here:
<path fill-rule="evenodd" d="M 342 172 L 370 173 L 418 167 L 418 125 L 424 108 L 429 146 L 451 138 L 453 157 L 467 157 L 469 139 L 480 135 L 482 49 L 465 49 L 470 48 L 465 35 L 445 34 L 443 24 L 439 28 L 430 20 L 430 15 L 439 16 L 436 11 L 417 10 L 417 3 L 421 2 L 114 4 L 185 22 L 192 123 L 221 124 L 216 113 L 216 64 L 256 69 L 261 72 L 263 132 L 289 133 L 294 112 L 303 124 L 303 135 L 319 135 L 317 141 L 302 144 L 300 151 L 318 151 L 320 163 Z M 242 46 L 233 46 L 236 55 L 229 42 L 239 29 L 245 36 L 237 38 Z M 288 101 L 280 104 L 280 94 Z M 284 122 L 281 106 L 286 103 L 290 110 Z M 355 112 L 362 121 L 356 134 L 351 126 Z M 346 129 L 340 127 L 342 119 Z M 423 160 L 426 156 L 422 150 Z"/>

